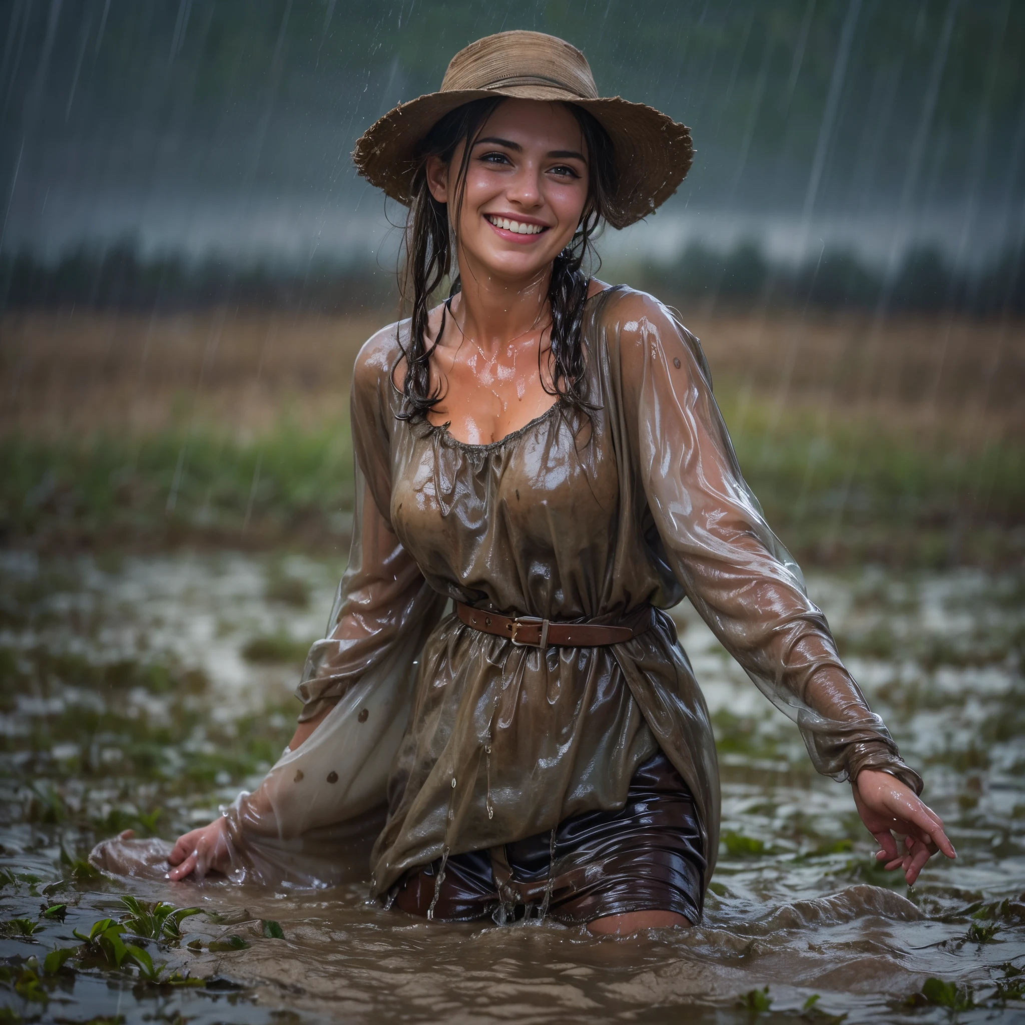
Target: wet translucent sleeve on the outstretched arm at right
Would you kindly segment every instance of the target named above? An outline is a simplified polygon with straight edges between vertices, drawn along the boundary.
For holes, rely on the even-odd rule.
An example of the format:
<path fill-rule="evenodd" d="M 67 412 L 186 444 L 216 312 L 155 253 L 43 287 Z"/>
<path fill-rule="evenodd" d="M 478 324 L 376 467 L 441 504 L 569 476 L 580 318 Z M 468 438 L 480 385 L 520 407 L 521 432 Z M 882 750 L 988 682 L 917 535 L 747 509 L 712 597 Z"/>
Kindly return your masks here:
<path fill-rule="evenodd" d="M 617 316 L 624 416 L 653 558 L 797 724 L 819 772 L 843 780 L 880 769 L 920 792 L 740 474 L 697 339 L 642 293 L 625 296 Z"/>

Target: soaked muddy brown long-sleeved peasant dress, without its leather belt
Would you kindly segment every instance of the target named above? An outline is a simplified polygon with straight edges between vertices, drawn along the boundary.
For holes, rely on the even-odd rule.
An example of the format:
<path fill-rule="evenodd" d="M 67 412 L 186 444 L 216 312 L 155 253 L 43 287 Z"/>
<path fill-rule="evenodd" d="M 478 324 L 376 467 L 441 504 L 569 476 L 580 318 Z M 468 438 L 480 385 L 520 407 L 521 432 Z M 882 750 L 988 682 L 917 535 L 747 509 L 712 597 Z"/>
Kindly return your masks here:
<path fill-rule="evenodd" d="M 583 338 L 589 416 L 557 402 L 489 445 L 398 418 L 395 327 L 361 351 L 352 558 L 297 691 L 302 720 L 334 707 L 229 812 L 240 861 L 261 842 L 294 872 L 299 855 L 369 829 L 385 895 L 418 866 L 623 809 L 661 756 L 693 797 L 703 893 L 719 771 L 666 611 L 685 598 L 795 721 L 819 772 L 881 769 L 920 791 L 740 475 L 697 339 L 626 287 L 587 300 Z M 651 625 L 542 650 L 464 625 L 453 602 Z M 581 868 L 555 853 L 548 876 Z"/>

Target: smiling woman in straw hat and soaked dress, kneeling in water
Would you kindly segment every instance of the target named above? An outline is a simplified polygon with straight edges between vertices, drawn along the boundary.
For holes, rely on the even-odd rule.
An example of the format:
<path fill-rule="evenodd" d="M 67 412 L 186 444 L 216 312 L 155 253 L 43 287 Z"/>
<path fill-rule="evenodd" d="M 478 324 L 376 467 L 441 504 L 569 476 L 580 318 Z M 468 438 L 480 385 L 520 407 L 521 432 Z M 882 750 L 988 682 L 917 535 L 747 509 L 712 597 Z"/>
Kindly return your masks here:
<path fill-rule="evenodd" d="M 740 476 L 697 339 L 584 273 L 599 224 L 676 189 L 688 130 L 599 98 L 561 40 L 509 32 L 355 159 L 410 206 L 412 317 L 356 364 L 351 565 L 285 757 L 177 842 L 170 877 L 370 826 L 373 891 L 411 914 L 697 922 L 719 778 L 664 611 L 684 597 L 850 780 L 888 868 L 911 884 L 954 857 Z"/>

